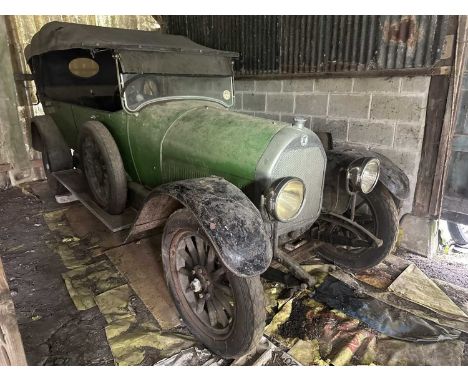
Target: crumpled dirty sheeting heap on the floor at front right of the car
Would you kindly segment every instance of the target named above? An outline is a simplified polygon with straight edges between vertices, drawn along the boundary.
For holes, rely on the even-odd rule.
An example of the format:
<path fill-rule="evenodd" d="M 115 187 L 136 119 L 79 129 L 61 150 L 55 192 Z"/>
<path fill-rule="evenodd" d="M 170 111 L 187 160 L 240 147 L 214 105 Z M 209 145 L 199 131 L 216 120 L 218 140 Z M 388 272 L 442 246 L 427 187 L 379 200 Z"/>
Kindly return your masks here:
<path fill-rule="evenodd" d="M 334 277 L 327 276 L 315 292 L 299 291 L 292 296 L 286 291 L 294 288 L 270 284 L 266 288 L 267 295 L 271 293 L 267 309 L 273 317 L 265 333 L 303 365 L 465 363 L 465 343 L 452 325 L 460 326 L 460 321 L 440 317 L 389 291 L 408 265 L 391 256 L 358 274 L 331 269 Z M 427 278 L 424 274 L 421 277 Z M 465 301 L 462 296 L 468 296 L 468 291 L 435 284 L 447 294 L 447 301 L 465 308 L 460 301 Z M 281 303 L 272 303 L 275 297 L 288 295 Z M 429 289 L 425 299 L 430 298 Z M 449 325 L 442 326 L 439 321 Z"/>

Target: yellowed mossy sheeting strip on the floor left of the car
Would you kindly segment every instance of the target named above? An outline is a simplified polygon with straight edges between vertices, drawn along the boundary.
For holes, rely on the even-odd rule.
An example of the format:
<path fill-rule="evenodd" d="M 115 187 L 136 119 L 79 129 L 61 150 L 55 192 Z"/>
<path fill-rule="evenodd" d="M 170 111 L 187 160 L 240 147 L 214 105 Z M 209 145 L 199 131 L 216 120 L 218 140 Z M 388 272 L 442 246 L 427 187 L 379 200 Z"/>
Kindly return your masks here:
<path fill-rule="evenodd" d="M 104 316 L 114 362 L 117 365 L 153 365 L 193 346 L 193 337 L 178 325 L 179 322 L 178 327 L 170 325 L 170 329 L 163 329 L 145 310 L 123 272 L 106 256 L 101 256 L 101 251 L 95 251 L 96 242 L 115 245 L 116 241 L 105 240 L 105 236 L 111 235 L 109 232 L 93 230 L 90 235 L 89 230 L 83 229 L 83 225 L 92 227 L 100 223 L 94 217 L 89 220 L 87 214 L 80 213 L 82 210 L 84 207 L 65 208 L 44 215 L 54 239 L 48 245 L 69 269 L 62 276 L 76 308 L 86 310 L 97 306 Z M 142 246 L 139 247 L 141 250 Z M 120 265 L 118 259 L 121 260 L 113 256 Z M 138 281 L 137 285 L 140 285 Z"/>

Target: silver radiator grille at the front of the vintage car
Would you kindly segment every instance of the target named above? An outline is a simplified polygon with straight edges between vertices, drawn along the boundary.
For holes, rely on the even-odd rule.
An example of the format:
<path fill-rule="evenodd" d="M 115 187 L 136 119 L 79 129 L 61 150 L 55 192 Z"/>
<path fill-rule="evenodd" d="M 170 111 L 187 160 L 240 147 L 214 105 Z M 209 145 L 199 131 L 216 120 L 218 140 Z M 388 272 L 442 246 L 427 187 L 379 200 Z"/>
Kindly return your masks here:
<path fill-rule="evenodd" d="M 302 179 L 306 187 L 302 211 L 296 219 L 279 223 L 278 232 L 285 233 L 317 219 L 320 214 L 325 157 L 320 147 L 295 147 L 281 154 L 273 168 L 272 181 L 286 176 Z"/>

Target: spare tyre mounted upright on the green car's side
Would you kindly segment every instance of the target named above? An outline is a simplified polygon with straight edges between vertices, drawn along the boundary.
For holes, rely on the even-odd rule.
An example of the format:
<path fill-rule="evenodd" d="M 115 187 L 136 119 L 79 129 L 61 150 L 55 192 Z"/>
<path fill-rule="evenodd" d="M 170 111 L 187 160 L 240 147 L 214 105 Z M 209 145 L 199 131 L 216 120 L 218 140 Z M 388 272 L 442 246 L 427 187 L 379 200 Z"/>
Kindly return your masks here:
<path fill-rule="evenodd" d="M 80 161 L 97 204 L 113 215 L 125 209 L 127 178 L 119 149 L 100 122 L 86 122 L 80 131 Z"/>

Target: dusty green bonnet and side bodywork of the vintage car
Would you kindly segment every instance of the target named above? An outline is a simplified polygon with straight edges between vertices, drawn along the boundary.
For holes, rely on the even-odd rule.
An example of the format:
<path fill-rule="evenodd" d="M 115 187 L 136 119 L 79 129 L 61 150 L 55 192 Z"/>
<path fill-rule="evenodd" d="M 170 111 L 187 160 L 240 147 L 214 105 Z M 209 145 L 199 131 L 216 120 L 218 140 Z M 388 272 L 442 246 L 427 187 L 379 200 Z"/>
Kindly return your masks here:
<path fill-rule="evenodd" d="M 66 115 L 67 106 L 71 116 Z M 193 100 L 155 103 L 133 114 L 54 101 L 51 111 L 75 149 L 79 127 L 89 120 L 102 122 L 119 147 L 129 178 L 150 188 L 209 175 L 245 187 L 255 179 L 268 143 L 287 126 Z"/>

